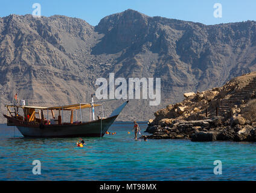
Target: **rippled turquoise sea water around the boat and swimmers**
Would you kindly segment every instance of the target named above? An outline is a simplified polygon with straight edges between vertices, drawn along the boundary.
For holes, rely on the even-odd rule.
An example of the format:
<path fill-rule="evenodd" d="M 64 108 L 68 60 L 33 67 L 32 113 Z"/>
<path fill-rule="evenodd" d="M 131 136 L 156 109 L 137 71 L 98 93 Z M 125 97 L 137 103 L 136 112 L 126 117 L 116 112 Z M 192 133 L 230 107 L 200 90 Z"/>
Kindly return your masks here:
<path fill-rule="evenodd" d="M 147 125 L 139 125 L 144 134 Z M 109 131 L 117 134 L 85 138 L 80 148 L 78 138 L 26 139 L 0 125 L 0 180 L 256 180 L 255 143 L 135 141 L 132 127 L 114 124 Z M 214 160 L 222 161 L 222 175 L 214 174 Z"/>

